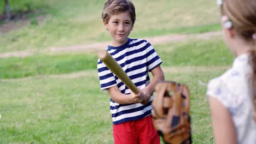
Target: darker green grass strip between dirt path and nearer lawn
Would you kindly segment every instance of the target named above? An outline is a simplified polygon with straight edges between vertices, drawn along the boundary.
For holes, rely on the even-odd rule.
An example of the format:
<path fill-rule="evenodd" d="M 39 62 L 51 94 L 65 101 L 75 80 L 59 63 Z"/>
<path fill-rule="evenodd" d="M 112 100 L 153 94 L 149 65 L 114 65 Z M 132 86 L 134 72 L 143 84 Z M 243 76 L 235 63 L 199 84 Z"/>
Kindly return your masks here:
<path fill-rule="evenodd" d="M 182 43 L 153 45 L 163 66 L 226 66 L 232 62 L 231 52 L 220 38 L 188 40 Z M 37 75 L 57 75 L 97 68 L 97 52 L 64 54 L 36 53 L 25 58 L 1 58 L 0 79 L 16 79 Z"/>

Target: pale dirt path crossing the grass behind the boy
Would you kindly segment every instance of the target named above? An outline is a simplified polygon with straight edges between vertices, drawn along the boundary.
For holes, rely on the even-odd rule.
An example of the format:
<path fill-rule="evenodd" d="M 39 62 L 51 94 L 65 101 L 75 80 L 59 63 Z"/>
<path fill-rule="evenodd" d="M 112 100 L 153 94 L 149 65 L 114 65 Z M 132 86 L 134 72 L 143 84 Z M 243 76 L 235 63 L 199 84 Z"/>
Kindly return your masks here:
<path fill-rule="evenodd" d="M 160 35 L 158 37 L 147 37 L 143 39 L 147 39 L 152 44 L 166 44 L 166 43 L 174 43 L 179 41 L 184 41 L 187 39 L 202 39 L 207 40 L 211 37 L 221 35 L 222 32 L 208 32 L 202 34 L 168 34 L 168 35 Z M 106 49 L 109 41 L 102 42 L 102 43 L 94 43 L 88 45 L 73 45 L 67 47 L 49 47 L 48 49 L 42 52 L 50 52 L 50 53 L 69 53 L 74 51 L 84 51 L 84 52 L 96 52 L 99 50 Z M 25 51 L 16 51 L 16 52 L 8 52 L 8 53 L 0 53 L 0 58 L 7 58 L 7 57 L 26 57 L 31 56 L 35 52 L 31 50 Z"/>

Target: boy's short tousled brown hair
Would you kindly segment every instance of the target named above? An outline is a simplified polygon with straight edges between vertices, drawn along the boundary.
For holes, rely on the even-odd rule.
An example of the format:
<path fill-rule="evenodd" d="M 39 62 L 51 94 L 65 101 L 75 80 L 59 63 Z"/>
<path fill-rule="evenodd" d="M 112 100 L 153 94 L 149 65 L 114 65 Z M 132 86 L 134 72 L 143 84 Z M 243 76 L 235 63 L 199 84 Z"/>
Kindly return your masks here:
<path fill-rule="evenodd" d="M 136 20 L 135 7 L 130 0 L 107 0 L 101 18 L 103 22 L 108 22 L 112 15 L 117 15 L 129 11 L 132 20 L 132 26 Z"/>

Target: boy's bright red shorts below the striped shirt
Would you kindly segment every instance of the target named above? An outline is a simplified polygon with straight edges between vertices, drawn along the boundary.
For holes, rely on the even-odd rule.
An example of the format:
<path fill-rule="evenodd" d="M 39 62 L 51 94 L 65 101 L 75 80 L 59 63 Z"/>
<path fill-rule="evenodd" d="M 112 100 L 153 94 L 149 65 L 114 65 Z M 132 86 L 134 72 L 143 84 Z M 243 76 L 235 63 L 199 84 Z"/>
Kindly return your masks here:
<path fill-rule="evenodd" d="M 136 121 L 113 125 L 113 136 L 115 144 L 160 143 L 160 137 L 153 126 L 151 115 Z"/>

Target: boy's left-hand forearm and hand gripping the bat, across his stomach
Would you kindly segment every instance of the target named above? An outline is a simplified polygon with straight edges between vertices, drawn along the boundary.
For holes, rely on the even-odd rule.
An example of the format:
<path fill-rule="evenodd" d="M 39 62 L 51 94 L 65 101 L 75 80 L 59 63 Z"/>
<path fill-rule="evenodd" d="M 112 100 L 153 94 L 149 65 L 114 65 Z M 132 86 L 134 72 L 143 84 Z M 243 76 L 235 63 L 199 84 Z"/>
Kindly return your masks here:
<path fill-rule="evenodd" d="M 131 92 L 131 94 L 123 94 L 117 86 L 108 88 L 108 92 L 112 100 L 119 104 L 134 104 L 141 103 L 144 99 L 144 94 L 139 91 L 138 94 Z"/>

